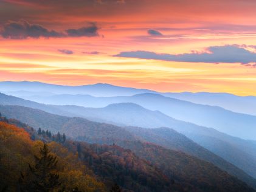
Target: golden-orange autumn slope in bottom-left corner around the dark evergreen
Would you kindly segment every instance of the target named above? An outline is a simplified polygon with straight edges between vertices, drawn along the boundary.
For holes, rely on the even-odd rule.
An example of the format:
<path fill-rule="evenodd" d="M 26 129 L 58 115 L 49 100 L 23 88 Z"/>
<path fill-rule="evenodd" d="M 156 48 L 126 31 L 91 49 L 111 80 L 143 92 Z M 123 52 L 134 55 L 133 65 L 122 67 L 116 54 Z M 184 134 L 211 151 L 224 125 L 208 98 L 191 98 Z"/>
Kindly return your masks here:
<path fill-rule="evenodd" d="M 33 166 L 34 156 L 38 156 L 42 145 L 43 142 L 31 140 L 30 135 L 24 129 L 0 122 L 1 191 L 20 191 L 20 187 L 23 187 L 25 183 L 32 185 L 31 179 L 34 178 L 27 172 L 29 164 Z M 88 168 L 81 164 L 77 156 L 55 142 L 49 143 L 49 147 L 52 154 L 58 159 L 55 173 L 59 175 L 60 187 L 57 185 L 58 189 L 56 190 L 65 187 L 68 191 L 73 191 L 75 188 L 79 191 L 106 191 L 105 185 L 97 181 Z M 22 183 L 20 182 L 21 172 L 24 178 Z M 85 180 L 87 182 L 84 182 Z"/>

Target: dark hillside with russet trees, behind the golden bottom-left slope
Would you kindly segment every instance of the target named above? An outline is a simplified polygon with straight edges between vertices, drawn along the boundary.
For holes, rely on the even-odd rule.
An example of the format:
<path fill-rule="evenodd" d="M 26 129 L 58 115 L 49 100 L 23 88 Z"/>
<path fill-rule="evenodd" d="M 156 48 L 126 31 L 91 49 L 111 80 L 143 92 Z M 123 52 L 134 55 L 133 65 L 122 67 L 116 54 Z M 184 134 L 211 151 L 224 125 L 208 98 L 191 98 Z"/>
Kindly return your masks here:
<path fill-rule="evenodd" d="M 9 122 L 22 127 L 26 126 L 12 119 Z M 159 179 L 157 188 L 162 188 L 162 191 L 167 191 L 164 188 L 178 189 L 178 191 L 226 191 L 221 187 L 223 182 L 225 186 L 230 185 L 228 188 L 232 189 L 231 191 L 253 191 L 246 184 L 211 163 L 151 143 L 120 139 L 116 139 L 115 143 L 112 143 L 113 138 L 109 137 L 100 140 L 108 145 L 91 145 L 85 142 L 58 139 L 62 138 L 58 134 L 49 137 L 48 130 L 40 131 L 39 135 L 35 131 L 29 132 L 34 140 L 43 139 L 46 142 L 55 140 L 72 151 L 72 154 L 77 153 L 77 157 L 83 161 L 84 165 L 93 170 L 107 187 L 109 183 L 116 182 L 123 188 L 130 188 L 134 191 L 137 191 L 134 188 L 154 191 L 156 188 L 154 188 L 153 181 Z M 30 142 L 34 143 L 32 140 Z M 126 149 L 120 148 L 118 145 Z M 56 153 L 63 151 L 60 149 L 56 149 Z M 131 149 L 131 151 L 127 149 Z M 54 149 L 52 150 L 54 151 Z M 130 182 L 125 182 L 127 179 Z M 170 183 L 173 184 L 171 187 Z M 216 185 L 216 183 L 220 183 L 220 185 Z"/>

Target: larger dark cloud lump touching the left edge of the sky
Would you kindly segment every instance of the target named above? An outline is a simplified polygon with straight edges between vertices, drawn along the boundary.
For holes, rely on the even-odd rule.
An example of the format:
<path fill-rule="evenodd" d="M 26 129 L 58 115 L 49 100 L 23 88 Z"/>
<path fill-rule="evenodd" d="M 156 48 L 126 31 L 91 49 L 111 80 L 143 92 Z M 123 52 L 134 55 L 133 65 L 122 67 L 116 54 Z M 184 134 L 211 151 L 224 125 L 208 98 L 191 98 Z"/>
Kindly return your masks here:
<path fill-rule="evenodd" d="M 3 38 L 11 39 L 26 39 L 28 37 L 40 38 L 41 36 L 60 37 L 62 33 L 55 32 L 54 30 L 48 30 L 38 24 L 30 24 L 27 21 L 7 22 L 1 30 Z"/>

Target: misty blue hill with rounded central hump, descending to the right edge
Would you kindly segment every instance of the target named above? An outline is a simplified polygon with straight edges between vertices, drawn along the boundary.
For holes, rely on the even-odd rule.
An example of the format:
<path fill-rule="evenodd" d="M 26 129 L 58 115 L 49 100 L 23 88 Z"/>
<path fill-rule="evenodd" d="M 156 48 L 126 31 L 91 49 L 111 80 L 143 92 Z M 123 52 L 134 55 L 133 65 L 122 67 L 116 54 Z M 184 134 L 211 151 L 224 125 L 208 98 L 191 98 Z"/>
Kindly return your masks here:
<path fill-rule="evenodd" d="M 150 111 L 133 103 L 112 104 L 105 108 L 83 108 L 78 106 L 58 106 L 58 108 L 64 111 L 80 114 L 81 117 L 89 119 L 99 118 L 100 122 L 112 121 L 115 122 L 116 125 L 147 128 L 164 126 L 173 128 L 186 135 L 194 142 L 199 143 L 199 145 L 204 146 L 204 148 L 209 149 L 209 151 L 212 151 L 218 156 L 223 157 L 225 160 L 245 170 L 246 173 L 249 173 L 251 176 L 256 177 L 256 145 L 252 142 L 223 134 L 215 129 L 182 122 L 168 117 L 159 111 Z M 157 144 L 162 145 L 162 142 L 164 140 L 166 141 L 166 139 L 164 139 L 165 134 L 168 134 L 168 137 L 171 137 L 168 131 L 166 132 L 164 129 L 154 130 L 157 130 L 157 135 L 155 131 L 154 137 L 150 137 L 150 140 L 148 140 L 150 142 L 156 143 L 156 141 L 159 141 L 160 143 Z M 151 134 L 153 134 L 152 131 Z M 179 138 L 177 135 L 176 137 Z M 147 136 L 147 139 L 148 138 L 149 137 Z M 175 139 L 175 137 L 172 137 L 171 143 L 174 143 L 173 139 Z M 176 140 L 176 142 L 178 142 L 178 140 Z M 170 145 L 164 146 L 170 147 Z M 189 148 L 189 145 L 186 146 L 186 148 Z M 207 156 L 205 156 L 204 159 L 206 157 Z M 206 158 L 206 160 L 209 159 Z"/>

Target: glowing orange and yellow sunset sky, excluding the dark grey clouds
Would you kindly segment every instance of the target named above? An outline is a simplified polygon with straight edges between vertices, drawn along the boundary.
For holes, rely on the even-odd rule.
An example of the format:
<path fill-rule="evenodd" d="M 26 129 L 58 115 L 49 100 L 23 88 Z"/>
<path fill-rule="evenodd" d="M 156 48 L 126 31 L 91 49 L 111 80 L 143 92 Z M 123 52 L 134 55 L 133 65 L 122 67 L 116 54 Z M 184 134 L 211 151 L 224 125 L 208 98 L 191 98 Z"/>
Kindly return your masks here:
<path fill-rule="evenodd" d="M 240 63 L 113 57 L 134 50 L 182 54 L 193 50 L 203 52 L 210 46 L 256 45 L 256 27 L 251 25 L 256 18 L 254 1 L 243 4 L 238 0 L 221 3 L 196 0 L 193 7 L 182 3 L 189 2 L 186 0 L 161 1 L 164 4 L 157 1 L 148 2 L 147 6 L 145 1 L 138 1 L 136 6 L 114 4 L 120 10 L 113 9 L 111 13 L 109 7 L 103 7 L 106 4 L 93 4 L 91 8 L 83 7 L 88 13 L 77 7 L 77 10 L 71 10 L 72 14 L 66 14 L 64 8 L 58 7 L 56 10 L 47 9 L 46 14 L 43 10 L 47 5 L 43 6 L 40 1 L 0 2 L 0 9 L 1 4 L 8 4 L 9 11 L 19 10 L 19 19 L 32 19 L 30 23 L 42 24 L 47 29 L 63 32 L 79 28 L 86 21 L 97 21 L 100 26 L 99 36 L 91 38 L 4 39 L 0 36 L 0 81 L 27 80 L 68 85 L 111 83 L 161 92 L 256 95 L 256 67 Z M 218 14 L 213 14 L 215 10 Z M 1 18 L 15 20 L 13 15 L 5 14 L 0 13 Z M 163 36 L 150 36 L 148 29 L 157 29 Z M 72 50 L 73 54 L 61 53 L 59 50 L 63 49 Z"/>

